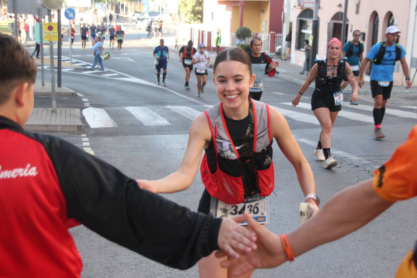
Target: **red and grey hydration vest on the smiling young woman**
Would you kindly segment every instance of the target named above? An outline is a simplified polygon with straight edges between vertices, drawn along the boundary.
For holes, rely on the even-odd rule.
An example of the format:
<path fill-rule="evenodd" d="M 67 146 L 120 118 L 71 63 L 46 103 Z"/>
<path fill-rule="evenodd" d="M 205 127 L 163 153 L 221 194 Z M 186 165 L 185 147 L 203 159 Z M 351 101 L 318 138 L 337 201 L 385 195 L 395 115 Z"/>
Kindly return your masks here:
<path fill-rule="evenodd" d="M 259 195 L 269 196 L 274 190 L 274 164 L 272 163 L 271 132 L 269 121 L 269 106 L 260 101 L 252 100 L 254 110 L 254 142 L 252 161 L 241 161 L 239 153 L 233 141 L 230 138 L 224 121 L 222 103 L 214 105 L 212 108 L 204 111 L 208 125 L 210 126 L 211 137 L 213 138 L 214 148 L 216 148 L 216 171 L 211 173 L 208 167 L 206 154 L 200 166 L 201 179 L 208 193 L 228 204 L 243 203 L 245 200 L 244 180 L 242 174 L 242 165 L 244 163 L 254 163 L 256 174 L 256 187 Z M 230 150 L 236 155 L 235 159 L 221 157 L 219 148 L 222 143 L 228 142 Z M 232 155 L 234 157 L 234 155 Z M 235 163 L 236 168 L 240 165 L 240 175 L 234 176 L 227 173 L 227 168 L 219 167 L 219 160 L 229 160 L 229 163 Z M 226 162 L 227 163 L 227 162 Z M 222 170 L 223 169 L 223 170 Z"/>

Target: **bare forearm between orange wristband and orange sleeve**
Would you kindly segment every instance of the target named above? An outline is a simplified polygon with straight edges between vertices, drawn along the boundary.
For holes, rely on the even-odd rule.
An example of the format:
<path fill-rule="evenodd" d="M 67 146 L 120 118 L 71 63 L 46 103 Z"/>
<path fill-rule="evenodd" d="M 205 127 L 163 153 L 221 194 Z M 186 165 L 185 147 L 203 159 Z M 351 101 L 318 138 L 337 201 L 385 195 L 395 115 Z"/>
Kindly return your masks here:
<path fill-rule="evenodd" d="M 393 203 L 380 198 L 372 180 L 353 185 L 334 195 L 319 212 L 287 235 L 295 256 L 342 238 L 370 222 Z"/>

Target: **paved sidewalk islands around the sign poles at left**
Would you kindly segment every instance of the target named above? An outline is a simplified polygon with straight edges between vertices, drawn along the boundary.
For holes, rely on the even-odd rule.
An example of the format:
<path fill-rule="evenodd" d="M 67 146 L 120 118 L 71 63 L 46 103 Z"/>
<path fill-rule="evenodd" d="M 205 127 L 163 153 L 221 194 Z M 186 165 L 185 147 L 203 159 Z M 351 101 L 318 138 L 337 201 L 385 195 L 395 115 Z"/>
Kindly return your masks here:
<path fill-rule="evenodd" d="M 45 87 L 42 87 L 40 81 L 35 82 L 35 96 L 50 96 L 50 91 L 50 83 L 45 82 Z M 56 91 L 57 95 L 77 95 L 75 91 L 65 87 L 56 88 Z M 23 128 L 35 132 L 85 132 L 81 110 L 78 108 L 57 108 L 56 112 L 52 112 L 52 108 L 34 108 Z"/>

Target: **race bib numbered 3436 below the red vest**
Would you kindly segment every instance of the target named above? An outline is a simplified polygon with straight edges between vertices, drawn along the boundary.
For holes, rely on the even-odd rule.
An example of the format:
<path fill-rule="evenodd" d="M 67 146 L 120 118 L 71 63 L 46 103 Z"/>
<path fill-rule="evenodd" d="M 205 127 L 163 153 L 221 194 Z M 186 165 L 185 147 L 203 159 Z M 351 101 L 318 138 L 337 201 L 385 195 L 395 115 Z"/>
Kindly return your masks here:
<path fill-rule="evenodd" d="M 215 218 L 226 218 L 229 215 L 243 214 L 245 211 L 250 213 L 260 224 L 269 222 L 269 197 L 261 197 L 256 194 L 254 197 L 246 198 L 244 203 L 226 204 L 221 200 L 211 197 L 210 212 Z M 240 225 L 248 225 L 245 221 Z"/>

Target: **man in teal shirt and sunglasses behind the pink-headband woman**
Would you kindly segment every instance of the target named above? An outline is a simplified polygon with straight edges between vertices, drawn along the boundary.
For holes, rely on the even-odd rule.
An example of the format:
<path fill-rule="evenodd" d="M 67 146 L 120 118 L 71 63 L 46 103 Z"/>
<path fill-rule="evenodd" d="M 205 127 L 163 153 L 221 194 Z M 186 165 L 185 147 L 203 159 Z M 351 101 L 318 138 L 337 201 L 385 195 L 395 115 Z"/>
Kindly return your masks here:
<path fill-rule="evenodd" d="M 346 62 L 349 63 L 350 68 L 352 69 L 352 73 L 355 77 L 356 82 L 358 82 L 359 78 L 359 63 L 362 62 L 363 59 L 363 52 L 364 52 L 364 44 L 359 42 L 359 37 L 361 36 L 361 32 L 359 30 L 354 30 L 353 33 L 353 40 L 344 44 L 342 49 L 342 58 L 346 57 Z M 346 79 L 346 76 L 343 78 L 343 83 L 340 85 L 340 88 L 343 90 L 349 82 Z M 357 101 L 350 100 L 350 104 L 358 105 Z"/>

